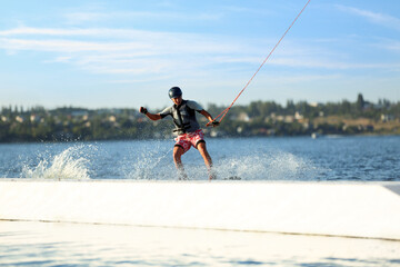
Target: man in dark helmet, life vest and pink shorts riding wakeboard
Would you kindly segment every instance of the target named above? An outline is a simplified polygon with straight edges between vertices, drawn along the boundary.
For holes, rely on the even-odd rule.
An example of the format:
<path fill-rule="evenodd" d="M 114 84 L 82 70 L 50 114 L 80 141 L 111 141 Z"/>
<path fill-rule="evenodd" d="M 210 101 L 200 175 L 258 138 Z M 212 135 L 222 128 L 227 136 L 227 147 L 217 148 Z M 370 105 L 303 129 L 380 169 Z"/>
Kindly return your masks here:
<path fill-rule="evenodd" d="M 209 174 L 209 180 L 216 179 L 216 174 L 212 169 L 212 159 L 207 151 L 204 135 L 196 119 L 196 111 L 204 116 L 213 127 L 218 126 L 218 121 L 213 121 L 212 116 L 206 111 L 198 102 L 192 100 L 183 100 L 182 91 L 179 87 L 172 87 L 168 95 L 173 105 L 166 108 L 160 113 L 150 113 L 147 108 L 140 107 L 139 111 L 144 113 L 151 120 L 163 119 L 171 116 L 176 128 L 173 132 L 178 136 L 174 140 L 173 161 L 178 169 L 179 179 L 188 179 L 184 172 L 181 156 L 186 154 L 191 147 L 199 150 L 204 159 L 206 167 Z"/>

